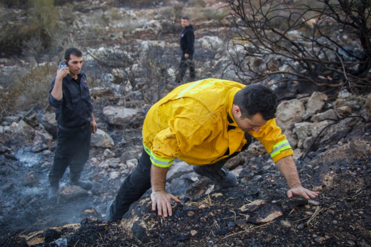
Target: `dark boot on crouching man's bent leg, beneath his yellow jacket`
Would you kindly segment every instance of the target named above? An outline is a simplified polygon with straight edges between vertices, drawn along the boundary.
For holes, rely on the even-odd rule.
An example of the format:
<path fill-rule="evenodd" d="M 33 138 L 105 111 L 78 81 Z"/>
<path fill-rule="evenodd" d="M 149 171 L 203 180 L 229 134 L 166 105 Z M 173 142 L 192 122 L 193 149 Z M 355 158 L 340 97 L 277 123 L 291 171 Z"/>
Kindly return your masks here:
<path fill-rule="evenodd" d="M 214 184 L 221 187 L 232 187 L 237 184 L 237 178 L 233 173 L 227 170 L 224 166 L 219 171 L 213 171 L 210 169 L 211 165 L 206 166 L 194 166 L 193 171 L 201 176 L 205 176 L 211 179 Z"/>

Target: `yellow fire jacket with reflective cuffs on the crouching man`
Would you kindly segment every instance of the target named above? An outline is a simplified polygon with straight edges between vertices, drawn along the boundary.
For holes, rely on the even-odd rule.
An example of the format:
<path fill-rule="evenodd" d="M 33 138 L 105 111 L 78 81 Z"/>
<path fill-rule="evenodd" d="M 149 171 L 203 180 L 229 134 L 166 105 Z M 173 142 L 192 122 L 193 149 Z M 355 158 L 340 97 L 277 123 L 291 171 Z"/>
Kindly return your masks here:
<path fill-rule="evenodd" d="M 233 97 L 246 85 L 220 79 L 183 84 L 154 104 L 143 125 L 143 145 L 155 166 L 179 158 L 194 166 L 213 164 L 241 151 L 246 138 L 232 115 Z M 271 119 L 249 131 L 278 161 L 293 155 L 286 137 Z"/>

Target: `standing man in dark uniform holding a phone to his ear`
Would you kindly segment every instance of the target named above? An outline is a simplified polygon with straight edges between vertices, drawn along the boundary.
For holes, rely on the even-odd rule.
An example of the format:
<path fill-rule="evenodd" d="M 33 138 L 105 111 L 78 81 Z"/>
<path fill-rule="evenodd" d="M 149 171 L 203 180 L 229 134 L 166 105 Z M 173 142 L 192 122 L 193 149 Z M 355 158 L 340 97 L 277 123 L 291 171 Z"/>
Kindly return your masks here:
<path fill-rule="evenodd" d="M 80 180 L 80 174 L 89 158 L 91 133 L 97 125 L 93 115 L 86 76 L 81 71 L 82 52 L 69 48 L 64 60 L 67 64 L 57 70 L 49 92 L 49 103 L 55 107 L 58 122 L 57 148 L 49 173 L 49 199 L 55 199 L 59 180 L 69 166 L 71 185 L 91 189 L 91 181 Z"/>

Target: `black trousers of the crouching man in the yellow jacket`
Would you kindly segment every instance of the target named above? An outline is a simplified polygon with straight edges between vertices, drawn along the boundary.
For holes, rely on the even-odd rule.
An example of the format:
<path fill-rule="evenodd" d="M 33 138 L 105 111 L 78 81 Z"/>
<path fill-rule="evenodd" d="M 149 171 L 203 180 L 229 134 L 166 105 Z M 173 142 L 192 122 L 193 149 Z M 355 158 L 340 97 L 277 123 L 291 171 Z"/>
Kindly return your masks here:
<path fill-rule="evenodd" d="M 246 150 L 251 143 L 251 136 L 245 133 L 247 143 L 242 150 Z M 223 160 L 211 164 L 212 170 L 219 171 L 224 164 L 239 152 L 233 153 Z M 111 207 L 111 215 L 113 220 L 121 220 L 122 216 L 129 210 L 132 203 L 139 200 L 141 196 L 151 188 L 151 160 L 150 156 L 144 151 L 138 160 L 137 166 L 132 170 L 129 176 L 121 183 L 119 191 L 116 195 Z"/>

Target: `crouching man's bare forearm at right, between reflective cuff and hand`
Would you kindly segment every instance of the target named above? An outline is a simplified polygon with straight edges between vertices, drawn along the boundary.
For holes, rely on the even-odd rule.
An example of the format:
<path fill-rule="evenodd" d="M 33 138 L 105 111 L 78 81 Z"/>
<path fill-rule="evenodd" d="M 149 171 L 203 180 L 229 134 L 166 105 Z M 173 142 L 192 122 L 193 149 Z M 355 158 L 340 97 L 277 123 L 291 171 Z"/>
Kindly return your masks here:
<path fill-rule="evenodd" d="M 298 170 L 296 169 L 292 156 L 281 158 L 276 162 L 276 165 L 290 188 L 297 185 L 301 186 Z"/>

